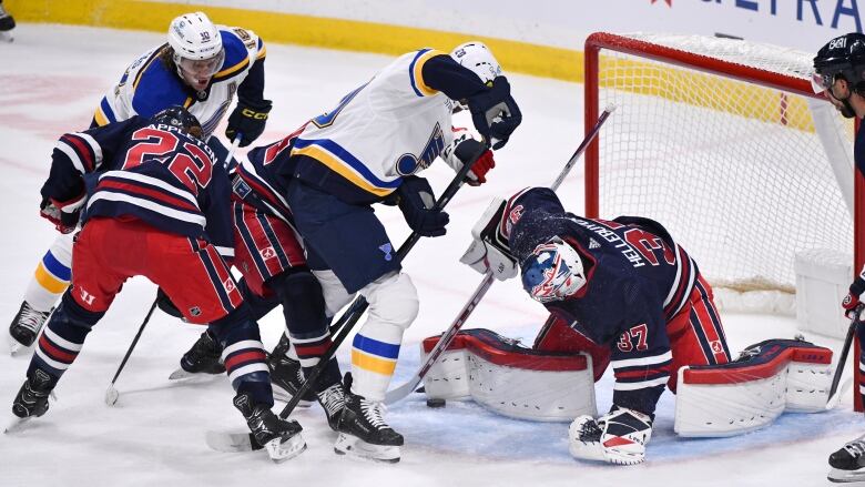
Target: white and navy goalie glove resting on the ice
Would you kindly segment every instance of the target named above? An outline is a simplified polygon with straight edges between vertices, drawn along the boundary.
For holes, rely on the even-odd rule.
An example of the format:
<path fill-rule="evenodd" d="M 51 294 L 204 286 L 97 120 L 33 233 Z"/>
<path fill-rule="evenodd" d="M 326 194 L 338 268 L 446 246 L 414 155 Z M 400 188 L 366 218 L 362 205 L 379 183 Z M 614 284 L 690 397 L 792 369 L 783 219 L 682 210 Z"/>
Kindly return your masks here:
<path fill-rule="evenodd" d="M 580 416 L 568 428 L 569 450 L 574 458 L 618 465 L 640 464 L 652 437 L 652 418 L 618 406 L 593 419 Z"/>

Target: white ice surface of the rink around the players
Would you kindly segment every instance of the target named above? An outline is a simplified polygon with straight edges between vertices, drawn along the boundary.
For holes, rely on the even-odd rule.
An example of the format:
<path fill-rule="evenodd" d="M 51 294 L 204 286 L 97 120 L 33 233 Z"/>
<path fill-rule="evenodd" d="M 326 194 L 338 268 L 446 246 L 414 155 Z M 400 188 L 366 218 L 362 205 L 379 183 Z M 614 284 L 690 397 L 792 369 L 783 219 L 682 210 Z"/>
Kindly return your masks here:
<path fill-rule="evenodd" d="M 161 42 L 161 35 L 151 33 L 23 24 L 14 43 L 0 44 L 3 327 L 18 311 L 27 282 L 54 237 L 51 225 L 38 217 L 39 187 L 54 141 L 63 132 L 86 128 L 96 103 L 126 64 Z M 261 142 L 282 138 L 329 109 L 388 62 L 380 55 L 274 44 L 267 51 L 266 94 L 274 100 L 274 111 Z M 421 241 L 406 261 L 421 307 L 406 334 L 395 384 L 418 366 L 419 341 L 444 331 L 480 282 L 480 275 L 457 260 L 490 197 L 549 184 L 582 139 L 581 85 L 509 78 L 525 114 L 522 126 L 497 154 L 490 182 L 466 187 L 452 201 L 448 234 Z M 560 190 L 574 211 L 582 209 L 581 172 L 578 165 Z M 438 191 L 451 174 L 444 164 L 425 173 Z M 376 211 L 393 240 L 401 242 L 408 231 L 399 213 L 388 207 Z M 104 404 L 105 388 L 154 295 L 149 282 L 130 281 L 64 375 L 51 410 L 23 433 L 0 435 L 0 485 L 816 486 L 827 484 L 828 454 L 865 429 L 845 398 L 835 412 L 784 415 L 772 427 L 750 435 L 686 440 L 673 434 L 674 398 L 665 393 L 649 461 L 608 467 L 570 458 L 567 424 L 508 419 L 470 403 L 428 409 L 423 396 L 413 395 L 388 414 L 406 436 L 399 464 L 334 455 L 335 435 L 316 405 L 296 414 L 305 427 L 307 452 L 273 465 L 263 453 L 218 454 L 205 446 L 205 430 L 243 430 L 245 425 L 231 405 L 233 394 L 225 377 L 185 384 L 167 381 L 201 328 L 159 312 L 116 384 L 118 404 Z M 528 300 L 516 282 L 496 283 L 467 327 L 488 327 L 530 343 L 545 317 L 542 307 Z M 732 349 L 795 333 L 788 318 L 725 315 L 724 323 Z M 279 313 L 263 319 L 268 348 L 282 327 Z M 4 339 L 6 332 L 0 336 Z M 839 347 L 837 341 L 808 338 Z M 11 358 L 0 353 L 0 406 L 10 418 L 11 400 L 29 362 L 29 354 L 22 355 Z M 338 356 L 345 366 L 347 349 Z M 598 386 L 601 410 L 609 407 L 611 387 L 609 375 Z"/>

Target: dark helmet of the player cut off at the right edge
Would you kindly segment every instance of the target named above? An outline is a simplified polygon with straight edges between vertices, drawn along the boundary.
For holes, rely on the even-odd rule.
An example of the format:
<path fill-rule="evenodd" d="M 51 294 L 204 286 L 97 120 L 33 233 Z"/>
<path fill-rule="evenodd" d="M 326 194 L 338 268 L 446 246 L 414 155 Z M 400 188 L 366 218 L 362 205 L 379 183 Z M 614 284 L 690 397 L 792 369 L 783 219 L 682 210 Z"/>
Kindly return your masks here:
<path fill-rule="evenodd" d="M 815 92 L 831 88 L 838 75 L 853 90 L 865 93 L 865 34 L 852 32 L 837 37 L 817 51 L 812 77 Z"/>

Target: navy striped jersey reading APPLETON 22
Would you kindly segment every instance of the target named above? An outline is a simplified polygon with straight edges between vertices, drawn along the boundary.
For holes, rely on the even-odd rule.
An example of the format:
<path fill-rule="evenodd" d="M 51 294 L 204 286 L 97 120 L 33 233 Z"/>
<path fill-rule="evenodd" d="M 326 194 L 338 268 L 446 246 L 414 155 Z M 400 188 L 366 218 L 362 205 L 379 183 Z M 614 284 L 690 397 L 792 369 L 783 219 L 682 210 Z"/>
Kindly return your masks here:
<path fill-rule="evenodd" d="M 70 201 L 86 191 L 84 222 L 133 217 L 204 239 L 226 255 L 233 247 L 231 187 L 226 170 L 215 161 L 204 142 L 133 116 L 60 138 L 41 193 Z"/>

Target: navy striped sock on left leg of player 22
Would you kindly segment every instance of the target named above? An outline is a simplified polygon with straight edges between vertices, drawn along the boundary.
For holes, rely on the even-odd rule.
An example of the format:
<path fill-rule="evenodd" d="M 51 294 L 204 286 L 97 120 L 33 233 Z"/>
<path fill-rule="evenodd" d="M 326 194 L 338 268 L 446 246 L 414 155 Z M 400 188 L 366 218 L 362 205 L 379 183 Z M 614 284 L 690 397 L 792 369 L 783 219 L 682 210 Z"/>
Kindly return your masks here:
<path fill-rule="evenodd" d="M 104 315 L 104 312 L 93 313 L 84 310 L 69 292 L 63 294 L 60 306 L 51 315 L 39 338 L 27 376 L 32 377 L 35 369 L 40 368 L 52 377 L 53 387 L 78 357 L 90 329 Z"/>

